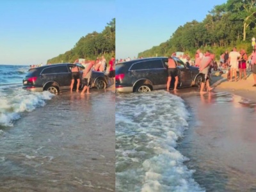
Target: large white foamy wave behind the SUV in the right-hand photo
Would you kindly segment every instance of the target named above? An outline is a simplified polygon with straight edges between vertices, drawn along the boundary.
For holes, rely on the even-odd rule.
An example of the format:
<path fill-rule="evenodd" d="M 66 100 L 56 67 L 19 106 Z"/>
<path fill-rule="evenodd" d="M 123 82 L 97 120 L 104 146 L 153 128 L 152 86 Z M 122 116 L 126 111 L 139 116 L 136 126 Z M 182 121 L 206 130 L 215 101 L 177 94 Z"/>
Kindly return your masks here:
<path fill-rule="evenodd" d="M 116 191 L 204 191 L 175 148 L 188 117 L 164 91 L 116 96 Z"/>

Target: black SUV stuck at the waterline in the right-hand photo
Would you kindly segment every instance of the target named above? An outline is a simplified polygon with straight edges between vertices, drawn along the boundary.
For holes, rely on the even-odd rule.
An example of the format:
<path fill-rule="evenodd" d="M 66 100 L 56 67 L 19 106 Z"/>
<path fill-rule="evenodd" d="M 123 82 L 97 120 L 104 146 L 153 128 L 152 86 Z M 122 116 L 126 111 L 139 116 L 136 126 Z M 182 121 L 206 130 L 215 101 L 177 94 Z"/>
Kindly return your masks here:
<path fill-rule="evenodd" d="M 200 86 L 204 77 L 199 68 L 183 63 L 173 57 L 178 68 L 178 87 Z M 166 88 L 168 58 L 143 58 L 138 60 L 116 63 L 116 92 L 150 92 Z M 170 88 L 174 87 L 172 78 Z"/>

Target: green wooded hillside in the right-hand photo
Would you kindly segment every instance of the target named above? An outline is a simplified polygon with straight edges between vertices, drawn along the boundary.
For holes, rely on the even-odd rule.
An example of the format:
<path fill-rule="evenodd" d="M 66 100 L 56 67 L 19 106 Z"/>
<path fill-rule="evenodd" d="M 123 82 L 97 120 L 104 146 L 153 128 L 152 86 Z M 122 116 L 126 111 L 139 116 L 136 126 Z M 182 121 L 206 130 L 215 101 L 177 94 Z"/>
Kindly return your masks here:
<path fill-rule="evenodd" d="M 228 0 L 214 6 L 202 22 L 192 20 L 179 26 L 169 40 L 140 52 L 138 57 L 170 56 L 182 51 L 191 56 L 196 49 L 220 55 L 232 47 L 252 52 L 256 35 L 256 0 Z"/>

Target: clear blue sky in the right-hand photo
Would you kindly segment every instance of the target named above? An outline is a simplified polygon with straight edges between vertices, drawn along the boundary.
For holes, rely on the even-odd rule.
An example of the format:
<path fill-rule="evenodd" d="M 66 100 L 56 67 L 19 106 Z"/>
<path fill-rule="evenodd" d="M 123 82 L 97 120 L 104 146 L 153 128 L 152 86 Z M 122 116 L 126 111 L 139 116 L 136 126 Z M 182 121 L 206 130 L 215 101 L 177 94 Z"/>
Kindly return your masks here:
<path fill-rule="evenodd" d="M 227 0 L 116 0 L 116 58 L 137 57 L 223 3 Z"/>

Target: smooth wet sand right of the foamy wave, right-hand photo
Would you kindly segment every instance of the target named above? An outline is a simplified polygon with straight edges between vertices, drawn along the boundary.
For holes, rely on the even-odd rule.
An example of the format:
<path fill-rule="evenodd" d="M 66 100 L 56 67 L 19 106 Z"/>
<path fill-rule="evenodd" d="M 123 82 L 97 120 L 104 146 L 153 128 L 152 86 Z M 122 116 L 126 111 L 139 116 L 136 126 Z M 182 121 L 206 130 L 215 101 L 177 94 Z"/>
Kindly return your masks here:
<path fill-rule="evenodd" d="M 191 118 L 178 150 L 206 191 L 256 191 L 256 102 L 230 90 L 179 90 Z"/>

